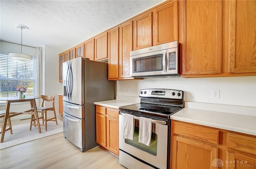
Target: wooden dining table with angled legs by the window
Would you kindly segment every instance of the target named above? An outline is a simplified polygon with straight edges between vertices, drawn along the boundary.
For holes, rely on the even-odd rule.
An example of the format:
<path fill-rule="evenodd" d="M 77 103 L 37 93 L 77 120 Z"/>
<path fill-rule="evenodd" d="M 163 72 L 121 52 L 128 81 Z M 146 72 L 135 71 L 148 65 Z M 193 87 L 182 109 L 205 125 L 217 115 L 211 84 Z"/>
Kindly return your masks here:
<path fill-rule="evenodd" d="M 4 122 L 2 126 L 2 134 L 1 134 L 1 141 L 0 143 L 4 142 L 4 134 L 6 130 L 6 124 L 8 118 L 13 116 L 18 116 L 20 114 L 34 114 L 36 116 L 36 125 L 38 126 L 38 132 L 41 133 L 40 123 L 38 119 L 38 112 L 36 109 L 36 99 L 41 98 L 41 96 L 26 96 L 26 98 L 19 98 L 19 96 L 12 96 L 12 97 L 0 97 L 0 100 L 6 100 L 6 108 L 4 114 Z M 24 111 L 24 112 L 10 112 L 10 105 L 11 103 L 15 102 L 30 102 L 31 109 Z M 33 110 L 32 110 L 33 108 Z"/>

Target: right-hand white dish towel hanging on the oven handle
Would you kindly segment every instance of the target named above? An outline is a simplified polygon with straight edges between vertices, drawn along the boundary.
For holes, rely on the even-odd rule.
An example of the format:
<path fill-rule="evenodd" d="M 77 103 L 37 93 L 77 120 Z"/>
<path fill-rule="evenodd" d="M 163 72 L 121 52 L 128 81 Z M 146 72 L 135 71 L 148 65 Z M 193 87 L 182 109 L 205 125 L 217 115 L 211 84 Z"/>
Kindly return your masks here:
<path fill-rule="evenodd" d="M 140 117 L 139 143 L 150 146 L 152 119 Z"/>

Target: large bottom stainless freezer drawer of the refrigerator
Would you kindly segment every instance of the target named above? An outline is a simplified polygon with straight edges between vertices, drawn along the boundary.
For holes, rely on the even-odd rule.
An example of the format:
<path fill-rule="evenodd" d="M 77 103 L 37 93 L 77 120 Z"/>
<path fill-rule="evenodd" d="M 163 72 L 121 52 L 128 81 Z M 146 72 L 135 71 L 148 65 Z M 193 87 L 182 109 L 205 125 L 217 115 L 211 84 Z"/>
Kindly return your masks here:
<path fill-rule="evenodd" d="M 84 119 L 75 118 L 63 112 L 63 134 L 70 142 L 85 149 Z"/>

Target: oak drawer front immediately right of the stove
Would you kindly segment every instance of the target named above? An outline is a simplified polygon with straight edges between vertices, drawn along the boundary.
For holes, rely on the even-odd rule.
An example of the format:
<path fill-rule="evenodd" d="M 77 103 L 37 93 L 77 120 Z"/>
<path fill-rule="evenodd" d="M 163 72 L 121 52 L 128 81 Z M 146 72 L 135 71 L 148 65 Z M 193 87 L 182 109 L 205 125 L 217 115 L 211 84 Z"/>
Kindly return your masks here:
<path fill-rule="evenodd" d="M 173 128 L 174 134 L 188 136 L 198 140 L 207 141 L 215 144 L 218 144 L 219 142 L 218 130 L 200 127 L 200 126 L 194 126 L 191 124 L 179 123 L 175 121 L 173 122 L 172 128 Z"/>

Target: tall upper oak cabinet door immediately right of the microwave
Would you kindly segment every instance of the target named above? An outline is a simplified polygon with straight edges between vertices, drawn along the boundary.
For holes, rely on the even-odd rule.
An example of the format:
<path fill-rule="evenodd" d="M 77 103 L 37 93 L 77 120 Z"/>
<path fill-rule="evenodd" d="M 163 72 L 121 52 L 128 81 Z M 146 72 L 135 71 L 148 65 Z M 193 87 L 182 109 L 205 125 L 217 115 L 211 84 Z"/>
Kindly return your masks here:
<path fill-rule="evenodd" d="M 222 1 L 180 0 L 182 75 L 221 73 Z"/>

